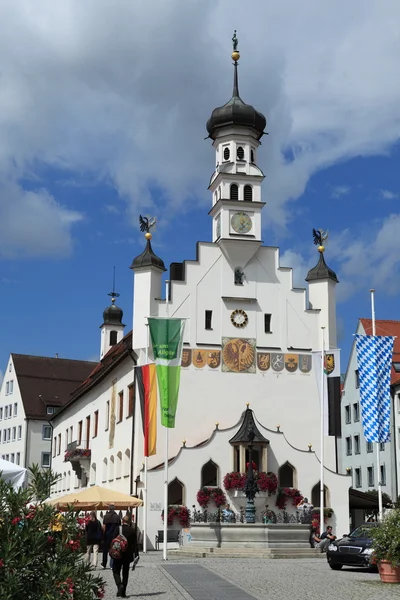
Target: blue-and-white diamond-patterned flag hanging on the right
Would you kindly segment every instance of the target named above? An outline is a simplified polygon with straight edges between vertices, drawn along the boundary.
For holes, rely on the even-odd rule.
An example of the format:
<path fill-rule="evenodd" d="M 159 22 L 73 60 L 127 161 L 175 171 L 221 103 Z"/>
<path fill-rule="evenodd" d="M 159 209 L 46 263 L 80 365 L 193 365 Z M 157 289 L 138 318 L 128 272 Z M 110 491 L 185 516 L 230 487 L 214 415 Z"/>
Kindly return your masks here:
<path fill-rule="evenodd" d="M 367 442 L 389 442 L 394 337 L 356 335 L 355 338 L 364 437 Z"/>

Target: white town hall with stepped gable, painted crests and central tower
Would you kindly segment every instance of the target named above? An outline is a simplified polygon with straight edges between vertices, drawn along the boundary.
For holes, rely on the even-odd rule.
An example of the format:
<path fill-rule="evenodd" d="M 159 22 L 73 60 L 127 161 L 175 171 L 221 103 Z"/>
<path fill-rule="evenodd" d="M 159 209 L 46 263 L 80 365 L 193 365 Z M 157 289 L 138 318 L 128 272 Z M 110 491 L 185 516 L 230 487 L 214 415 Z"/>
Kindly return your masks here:
<path fill-rule="evenodd" d="M 86 485 L 127 493 L 143 488 L 143 429 L 135 364 L 146 361 L 147 318 L 186 320 L 176 427 L 169 432 L 170 504 L 199 508 L 202 485 L 223 488 L 226 473 L 244 472 L 244 415 L 257 427 L 254 461 L 282 487 L 298 488 L 319 506 L 320 407 L 311 353 L 337 347 L 335 273 L 323 252 L 293 287 L 292 269 L 280 266 L 279 248 L 262 244 L 263 172 L 258 148 L 266 119 L 239 95 L 239 54 L 234 52 L 232 98 L 207 122 L 215 151 L 210 242 L 198 242 L 196 259 L 165 266 L 150 239 L 134 258 L 133 331 L 124 336 L 122 311 L 113 298 L 101 328 L 101 362 L 52 423 L 52 467 L 63 475 L 53 497 Z M 266 199 L 267 200 L 267 199 Z M 150 236 L 149 236 L 150 237 Z M 150 351 L 151 359 L 151 351 Z M 69 448 L 88 456 L 64 461 Z M 164 431 L 148 459 L 148 544 L 162 529 Z M 349 529 L 351 478 L 337 474 L 335 437 L 325 438 L 325 506 L 338 534 Z M 74 470 L 73 468 L 74 467 Z M 236 495 L 237 496 L 237 495 Z M 243 497 L 228 495 L 239 511 Z M 275 507 L 275 497 L 263 500 Z M 142 526 L 142 510 L 139 526 Z"/>

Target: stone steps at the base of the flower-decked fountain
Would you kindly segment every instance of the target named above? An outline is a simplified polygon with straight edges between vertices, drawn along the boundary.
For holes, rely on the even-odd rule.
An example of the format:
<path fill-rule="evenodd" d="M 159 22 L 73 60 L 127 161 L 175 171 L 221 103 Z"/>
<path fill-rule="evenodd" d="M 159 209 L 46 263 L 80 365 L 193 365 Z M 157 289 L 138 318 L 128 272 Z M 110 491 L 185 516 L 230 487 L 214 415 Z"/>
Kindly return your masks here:
<path fill-rule="evenodd" d="M 183 546 L 169 550 L 169 556 L 182 558 L 325 558 L 316 548 L 201 548 Z"/>

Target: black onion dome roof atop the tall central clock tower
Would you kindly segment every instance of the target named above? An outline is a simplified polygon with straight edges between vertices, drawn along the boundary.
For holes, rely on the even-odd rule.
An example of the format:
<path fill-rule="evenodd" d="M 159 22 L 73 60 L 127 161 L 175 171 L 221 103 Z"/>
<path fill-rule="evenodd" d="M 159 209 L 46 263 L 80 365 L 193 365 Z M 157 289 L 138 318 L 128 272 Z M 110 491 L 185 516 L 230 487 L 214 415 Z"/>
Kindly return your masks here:
<path fill-rule="evenodd" d="M 209 137 L 215 139 L 216 132 L 222 127 L 232 125 L 241 125 L 242 127 L 251 127 L 257 132 L 257 139 L 260 139 L 267 125 L 267 119 L 258 110 L 243 102 L 239 96 L 237 62 L 234 63 L 234 79 L 232 98 L 224 104 L 215 108 L 211 117 L 207 121 L 207 131 Z"/>

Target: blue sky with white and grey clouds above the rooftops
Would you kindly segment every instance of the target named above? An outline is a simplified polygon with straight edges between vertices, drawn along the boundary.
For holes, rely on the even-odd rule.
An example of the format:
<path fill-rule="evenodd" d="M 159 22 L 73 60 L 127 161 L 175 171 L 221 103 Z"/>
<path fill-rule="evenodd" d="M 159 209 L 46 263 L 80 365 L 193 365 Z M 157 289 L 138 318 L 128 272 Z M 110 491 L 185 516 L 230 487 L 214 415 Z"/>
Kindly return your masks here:
<path fill-rule="evenodd" d="M 265 244 L 301 285 L 329 229 L 344 358 L 371 287 L 377 318 L 400 318 L 400 6 L 253 0 L 254 23 L 244 4 L 2 3 L 0 370 L 10 352 L 96 360 L 114 265 L 129 330 L 139 213 L 166 264 L 210 239 L 205 123 L 230 97 L 235 27 L 270 134 Z"/>

